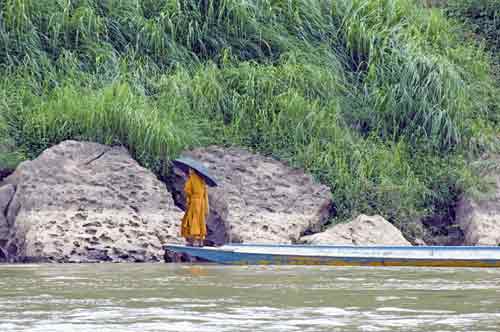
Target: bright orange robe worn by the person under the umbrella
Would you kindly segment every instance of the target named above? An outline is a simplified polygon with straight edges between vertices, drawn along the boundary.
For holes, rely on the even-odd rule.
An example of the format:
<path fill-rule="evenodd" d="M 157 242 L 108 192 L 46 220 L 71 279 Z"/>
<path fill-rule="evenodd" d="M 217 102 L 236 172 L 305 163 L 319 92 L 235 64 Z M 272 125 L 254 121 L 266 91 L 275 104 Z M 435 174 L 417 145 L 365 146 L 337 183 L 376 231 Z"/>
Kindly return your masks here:
<path fill-rule="evenodd" d="M 203 240 L 207 235 L 205 219 L 208 215 L 208 192 L 203 178 L 191 173 L 184 186 L 186 213 L 182 218 L 181 235 L 185 238 Z"/>

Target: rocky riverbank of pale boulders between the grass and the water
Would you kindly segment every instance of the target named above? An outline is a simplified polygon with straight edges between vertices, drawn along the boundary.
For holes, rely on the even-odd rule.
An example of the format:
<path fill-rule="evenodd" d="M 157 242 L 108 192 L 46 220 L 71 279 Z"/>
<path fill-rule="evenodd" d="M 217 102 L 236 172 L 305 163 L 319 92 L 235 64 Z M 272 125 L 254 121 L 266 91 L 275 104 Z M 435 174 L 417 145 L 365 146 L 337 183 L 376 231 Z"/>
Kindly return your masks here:
<path fill-rule="evenodd" d="M 379 215 L 329 225 L 328 187 L 275 159 L 217 146 L 183 156 L 203 163 L 218 183 L 208 190 L 205 245 L 425 245 Z M 161 182 L 120 146 L 69 140 L 45 150 L 0 182 L 0 261 L 163 261 L 164 244 L 184 242 L 186 175 L 171 174 Z M 493 176 L 491 197 L 458 204 L 456 245 L 500 244 L 500 176 Z"/>

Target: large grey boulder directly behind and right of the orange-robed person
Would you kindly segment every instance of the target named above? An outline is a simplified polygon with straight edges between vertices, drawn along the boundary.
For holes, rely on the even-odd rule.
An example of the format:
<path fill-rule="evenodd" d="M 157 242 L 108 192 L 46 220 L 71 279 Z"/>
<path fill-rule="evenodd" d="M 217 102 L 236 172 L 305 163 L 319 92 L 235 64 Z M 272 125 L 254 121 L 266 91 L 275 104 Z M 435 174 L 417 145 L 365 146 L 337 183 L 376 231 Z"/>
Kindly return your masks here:
<path fill-rule="evenodd" d="M 207 225 L 209 238 L 219 237 L 215 242 L 292 243 L 319 231 L 328 219 L 330 190 L 301 170 L 236 148 L 208 147 L 183 155 L 201 161 L 219 183 L 209 189 Z M 169 181 L 181 205 L 184 181 L 182 172 Z"/>

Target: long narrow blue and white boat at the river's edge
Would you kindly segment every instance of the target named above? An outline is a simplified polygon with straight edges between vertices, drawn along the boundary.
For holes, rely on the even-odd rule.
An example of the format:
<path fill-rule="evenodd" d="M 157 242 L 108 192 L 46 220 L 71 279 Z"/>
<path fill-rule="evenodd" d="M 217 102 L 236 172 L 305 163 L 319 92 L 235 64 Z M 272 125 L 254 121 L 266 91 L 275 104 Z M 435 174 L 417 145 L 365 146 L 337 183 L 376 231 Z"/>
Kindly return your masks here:
<path fill-rule="evenodd" d="M 500 246 L 330 246 L 227 244 L 165 250 L 228 265 L 500 267 Z"/>

